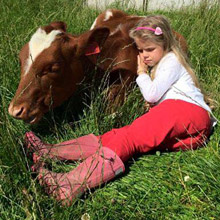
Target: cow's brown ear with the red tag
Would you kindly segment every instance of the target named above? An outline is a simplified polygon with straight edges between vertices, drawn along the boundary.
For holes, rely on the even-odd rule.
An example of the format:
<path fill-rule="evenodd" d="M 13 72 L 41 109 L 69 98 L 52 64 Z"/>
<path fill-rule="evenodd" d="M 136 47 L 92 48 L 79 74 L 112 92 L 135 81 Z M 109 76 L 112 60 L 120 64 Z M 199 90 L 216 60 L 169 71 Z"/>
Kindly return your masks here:
<path fill-rule="evenodd" d="M 99 53 L 109 33 L 110 30 L 108 28 L 102 27 L 81 35 L 78 39 L 76 55 L 81 56 Z"/>

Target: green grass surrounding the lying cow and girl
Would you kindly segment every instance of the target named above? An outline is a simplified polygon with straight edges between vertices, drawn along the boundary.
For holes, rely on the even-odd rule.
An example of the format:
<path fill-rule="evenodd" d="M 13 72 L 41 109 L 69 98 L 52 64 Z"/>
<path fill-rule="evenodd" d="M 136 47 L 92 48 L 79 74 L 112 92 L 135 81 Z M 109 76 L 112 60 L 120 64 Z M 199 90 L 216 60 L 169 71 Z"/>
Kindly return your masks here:
<path fill-rule="evenodd" d="M 30 170 L 23 136 L 34 130 L 45 141 L 59 142 L 79 135 L 100 134 L 132 122 L 143 113 L 141 95 L 134 88 L 114 119 L 99 90 L 92 89 L 90 105 L 80 88 L 70 101 L 30 126 L 7 112 L 19 82 L 18 53 L 35 30 L 63 20 L 70 33 L 88 30 L 100 13 L 67 0 L 0 0 L 0 219 L 207 219 L 220 217 L 219 126 L 210 142 L 197 151 L 143 155 L 127 163 L 127 172 L 103 187 L 87 192 L 71 207 L 62 207 L 39 186 Z M 113 5 L 120 8 L 120 5 Z M 207 94 L 220 102 L 219 4 L 157 11 L 188 42 L 190 58 Z M 126 9 L 129 14 L 146 12 Z M 150 13 L 150 12 L 148 12 Z M 79 99 L 80 97 L 80 99 Z M 83 110 L 76 108 L 81 105 Z M 219 104 L 214 114 L 220 116 Z M 55 167 L 65 167 L 55 164 Z M 67 169 L 71 164 L 66 165 Z M 184 180 L 189 177 L 188 181 Z"/>

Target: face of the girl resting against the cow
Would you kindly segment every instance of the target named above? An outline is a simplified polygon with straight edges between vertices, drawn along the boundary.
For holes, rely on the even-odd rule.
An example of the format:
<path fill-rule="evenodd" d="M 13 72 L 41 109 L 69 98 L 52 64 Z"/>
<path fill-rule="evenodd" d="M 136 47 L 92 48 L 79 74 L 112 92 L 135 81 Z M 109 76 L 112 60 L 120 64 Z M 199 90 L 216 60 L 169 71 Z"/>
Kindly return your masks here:
<path fill-rule="evenodd" d="M 162 46 L 149 40 L 135 38 L 135 43 L 137 45 L 141 61 L 150 67 L 158 64 L 161 58 L 167 53 Z"/>

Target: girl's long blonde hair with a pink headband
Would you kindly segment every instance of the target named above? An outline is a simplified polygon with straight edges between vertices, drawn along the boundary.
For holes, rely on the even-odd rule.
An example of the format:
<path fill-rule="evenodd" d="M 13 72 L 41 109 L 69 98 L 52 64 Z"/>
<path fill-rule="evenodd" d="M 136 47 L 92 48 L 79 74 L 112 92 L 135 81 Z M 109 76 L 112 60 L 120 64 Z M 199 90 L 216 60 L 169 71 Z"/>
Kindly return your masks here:
<path fill-rule="evenodd" d="M 137 27 L 150 27 L 153 29 L 156 29 L 156 27 L 160 27 L 163 33 L 161 35 L 155 35 L 154 32 L 151 30 L 136 30 Z M 149 15 L 144 17 L 138 22 L 137 26 L 130 31 L 129 36 L 134 40 L 136 38 L 150 40 L 151 42 L 162 46 L 165 51 L 172 51 L 177 56 L 179 62 L 191 75 L 195 86 L 198 88 L 200 87 L 195 72 L 191 68 L 187 55 L 181 50 L 179 42 L 177 42 L 177 40 L 175 39 L 173 31 L 170 27 L 170 23 L 165 16 Z M 152 78 L 154 78 L 156 68 L 157 66 L 152 69 Z"/>

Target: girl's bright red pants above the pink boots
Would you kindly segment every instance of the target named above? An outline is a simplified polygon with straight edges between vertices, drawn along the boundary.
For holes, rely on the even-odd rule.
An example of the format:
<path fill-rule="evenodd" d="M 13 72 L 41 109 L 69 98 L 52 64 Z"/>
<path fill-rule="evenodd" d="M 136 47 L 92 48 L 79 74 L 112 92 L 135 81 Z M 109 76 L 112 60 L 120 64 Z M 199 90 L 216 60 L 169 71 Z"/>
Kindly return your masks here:
<path fill-rule="evenodd" d="M 178 151 L 202 146 L 210 133 L 203 108 L 182 100 L 165 100 L 128 126 L 100 136 L 102 145 L 122 161 L 151 150 Z"/>

